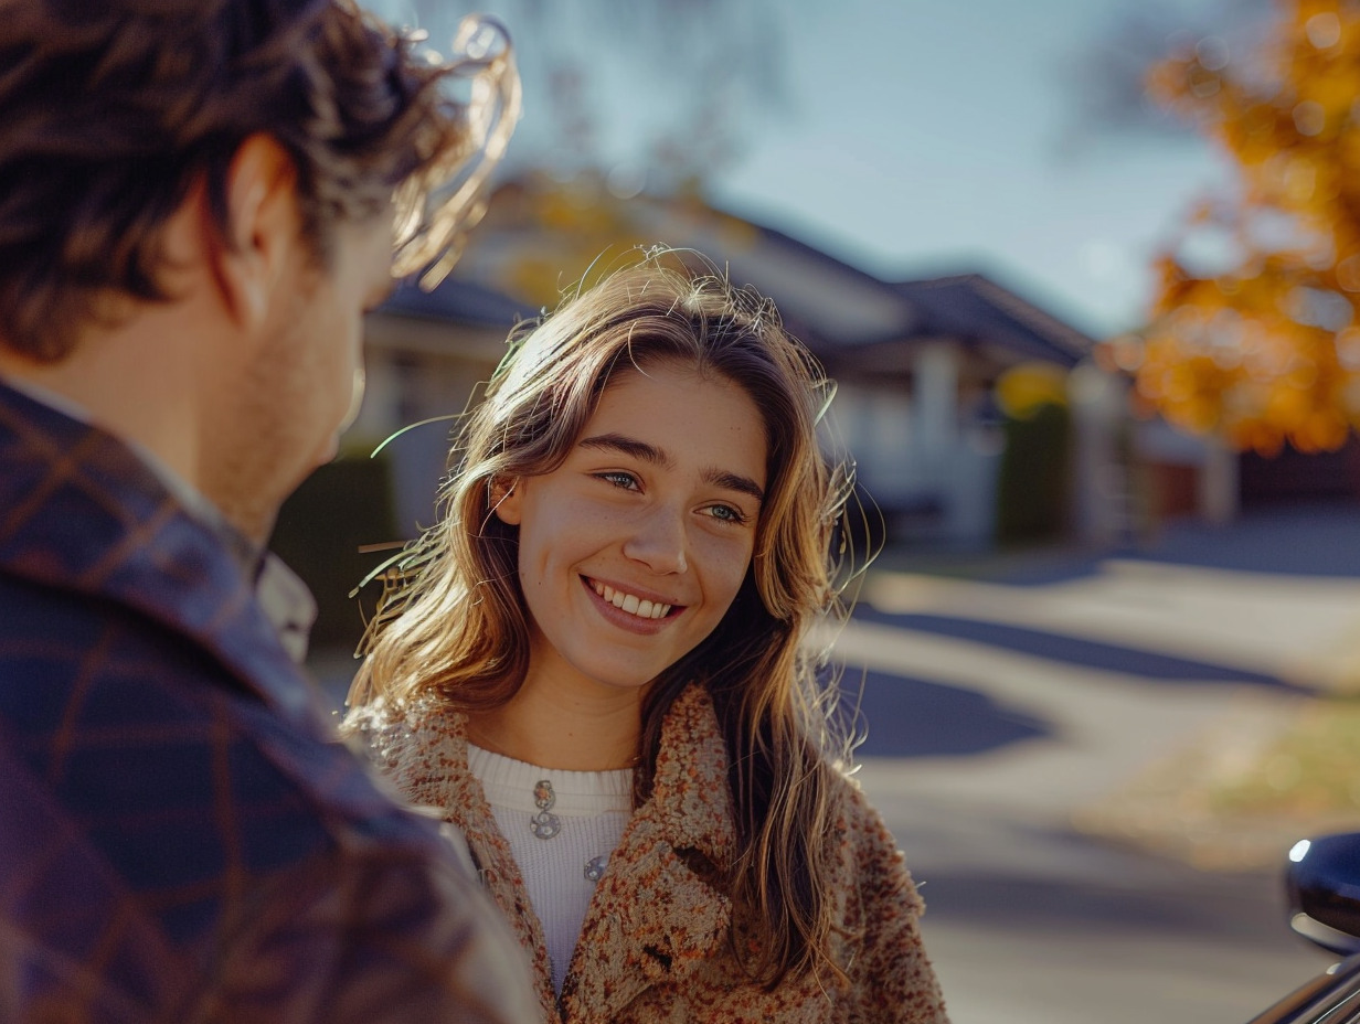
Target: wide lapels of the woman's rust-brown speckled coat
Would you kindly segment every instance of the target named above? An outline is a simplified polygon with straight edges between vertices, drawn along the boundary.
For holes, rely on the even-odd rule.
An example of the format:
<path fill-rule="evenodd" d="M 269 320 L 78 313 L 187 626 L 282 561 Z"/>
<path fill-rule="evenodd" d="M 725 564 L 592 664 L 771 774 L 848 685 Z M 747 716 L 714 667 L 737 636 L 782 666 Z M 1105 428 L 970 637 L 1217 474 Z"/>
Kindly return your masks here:
<path fill-rule="evenodd" d="M 481 785 L 468 770 L 466 718 L 416 706 L 403 725 L 416 749 L 385 752 L 403 791 L 462 830 L 483 884 L 530 953 L 547 1019 L 612 1020 L 647 987 L 683 980 L 728 941 L 726 878 L 737 836 L 726 743 L 702 685 L 691 684 L 666 711 L 651 796 L 609 855 L 560 1001 L 552 993 L 543 926 Z"/>

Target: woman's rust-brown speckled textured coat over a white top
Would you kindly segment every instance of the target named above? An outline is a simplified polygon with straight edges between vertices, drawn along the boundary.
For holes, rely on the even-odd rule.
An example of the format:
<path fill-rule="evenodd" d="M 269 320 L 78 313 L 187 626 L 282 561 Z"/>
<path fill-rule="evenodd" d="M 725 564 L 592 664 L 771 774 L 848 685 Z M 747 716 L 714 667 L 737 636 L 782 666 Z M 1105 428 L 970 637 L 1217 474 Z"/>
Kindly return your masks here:
<path fill-rule="evenodd" d="M 379 706 L 352 723 L 408 800 L 438 809 L 465 835 L 483 884 L 533 960 L 544 1021 L 947 1021 L 917 927 L 922 904 L 902 854 L 842 776 L 832 953 L 849 985 L 805 978 L 771 993 L 741 972 L 730 946 L 732 900 L 721 883 L 737 844 L 729 760 L 702 687 L 685 689 L 666 714 L 653 793 L 609 857 L 560 997 L 554 995 L 543 926 L 520 869 L 468 770 L 464 715 L 428 699 L 405 714 Z M 738 930 L 736 941 L 749 940 Z"/>

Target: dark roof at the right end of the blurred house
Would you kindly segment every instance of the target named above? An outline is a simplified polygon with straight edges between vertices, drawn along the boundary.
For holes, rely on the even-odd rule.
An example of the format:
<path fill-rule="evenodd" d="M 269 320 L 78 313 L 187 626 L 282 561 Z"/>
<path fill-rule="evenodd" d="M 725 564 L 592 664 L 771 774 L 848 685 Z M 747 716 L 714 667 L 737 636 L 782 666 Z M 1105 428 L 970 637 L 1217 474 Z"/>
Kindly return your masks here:
<path fill-rule="evenodd" d="M 1095 340 L 981 273 L 899 281 L 925 329 L 970 343 L 996 344 L 1027 359 L 1076 366 Z"/>

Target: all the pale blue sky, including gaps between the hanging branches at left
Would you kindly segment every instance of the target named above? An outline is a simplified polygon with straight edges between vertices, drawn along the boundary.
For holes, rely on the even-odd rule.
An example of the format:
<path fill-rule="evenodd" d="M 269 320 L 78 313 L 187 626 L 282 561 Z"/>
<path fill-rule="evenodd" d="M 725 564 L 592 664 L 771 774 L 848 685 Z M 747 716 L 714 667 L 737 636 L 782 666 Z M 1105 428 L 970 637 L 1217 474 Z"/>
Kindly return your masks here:
<path fill-rule="evenodd" d="M 736 158 L 713 169 L 709 194 L 884 277 L 982 271 L 1095 335 L 1136 326 L 1152 254 L 1228 174 L 1194 137 L 1110 133 L 1065 144 L 1081 124 L 1084 83 L 1072 65 L 1137 1 L 767 3 L 785 102 L 741 118 Z M 1168 26 L 1216 26 L 1225 4 L 1163 0 L 1159 10 Z M 374 7 L 435 38 L 468 10 L 461 0 Z M 534 140 L 541 151 L 560 113 L 532 71 L 536 37 L 589 54 L 605 160 L 635 159 L 649 125 L 673 113 L 679 80 L 649 67 L 654 52 L 592 23 L 609 4 L 486 7 L 525 52 L 525 120 L 511 152 L 534 151 Z M 748 34 L 745 45 L 760 39 Z"/>

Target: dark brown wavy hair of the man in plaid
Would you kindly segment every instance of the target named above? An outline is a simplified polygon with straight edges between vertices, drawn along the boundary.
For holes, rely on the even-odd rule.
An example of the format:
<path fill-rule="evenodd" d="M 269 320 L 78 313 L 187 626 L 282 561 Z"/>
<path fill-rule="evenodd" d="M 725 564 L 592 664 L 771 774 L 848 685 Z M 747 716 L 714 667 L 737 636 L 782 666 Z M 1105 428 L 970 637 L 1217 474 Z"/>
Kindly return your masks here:
<path fill-rule="evenodd" d="M 0 0 L 0 339 L 54 362 L 106 295 L 165 299 L 162 227 L 201 181 L 230 245 L 256 133 L 325 265 L 335 222 L 466 146 L 445 73 L 352 0 Z"/>

